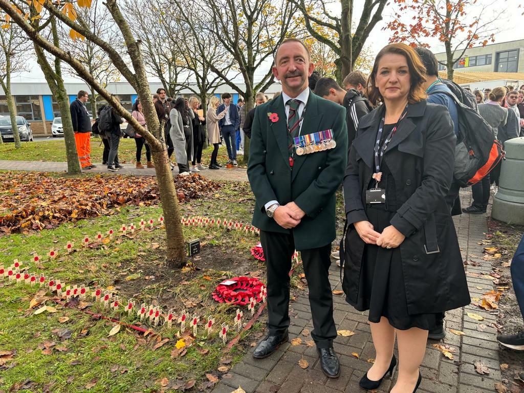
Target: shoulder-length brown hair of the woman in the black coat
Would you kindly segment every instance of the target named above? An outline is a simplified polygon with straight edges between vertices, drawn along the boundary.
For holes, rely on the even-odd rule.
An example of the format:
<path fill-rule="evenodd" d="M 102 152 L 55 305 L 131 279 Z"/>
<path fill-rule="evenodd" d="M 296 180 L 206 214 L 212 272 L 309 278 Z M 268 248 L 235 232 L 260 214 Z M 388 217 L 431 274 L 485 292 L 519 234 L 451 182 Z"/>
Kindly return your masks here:
<path fill-rule="evenodd" d="M 375 58 L 375 63 L 373 64 L 373 71 L 369 74 L 367 79 L 367 97 L 368 100 L 376 106 L 379 102 L 382 101 L 382 96 L 380 91 L 375 85 L 375 78 L 378 72 L 378 63 L 380 59 L 383 58 L 385 54 L 395 53 L 401 54 L 406 58 L 409 68 L 409 75 L 411 79 L 411 87 L 409 89 L 408 102 L 410 104 L 417 103 L 425 99 L 426 94 L 422 85 L 426 81 L 425 79 L 425 68 L 424 64 L 419 58 L 417 52 L 405 43 L 390 43 L 384 48 L 380 49 L 377 57 Z"/>

